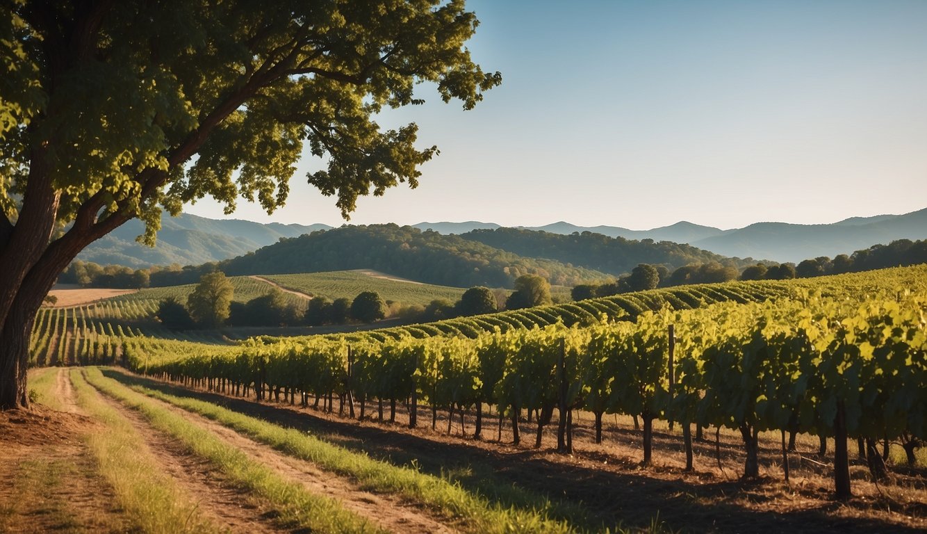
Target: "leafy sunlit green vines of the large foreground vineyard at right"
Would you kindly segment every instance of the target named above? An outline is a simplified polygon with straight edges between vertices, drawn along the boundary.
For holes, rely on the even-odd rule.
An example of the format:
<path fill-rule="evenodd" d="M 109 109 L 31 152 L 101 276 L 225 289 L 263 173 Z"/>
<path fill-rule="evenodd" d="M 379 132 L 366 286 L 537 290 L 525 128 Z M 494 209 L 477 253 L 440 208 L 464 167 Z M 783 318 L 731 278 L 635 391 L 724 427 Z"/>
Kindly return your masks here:
<path fill-rule="evenodd" d="M 469 319 L 444 328 L 251 340 L 233 349 L 185 352 L 177 343 L 126 337 L 123 350 L 138 372 L 259 401 L 282 395 L 333 410 L 337 399 L 339 413 L 354 416 L 357 404 L 356 415 L 364 418 L 369 405 L 381 421 L 395 421 L 402 405 L 411 426 L 418 424 L 418 403 L 430 407 L 432 426 L 439 408 L 448 421 L 459 414 L 462 426 L 464 414 L 475 411 L 476 437 L 485 426 L 484 407 L 494 408 L 499 431 L 502 419 L 509 420 L 515 444 L 520 422 L 533 414 L 540 446 L 556 408 L 561 451 L 571 448 L 573 411 L 595 415 L 597 439 L 603 414 L 633 415 L 643 423 L 644 464 L 651 462 L 654 419 L 678 423 L 687 442 L 693 425 L 728 427 L 743 436 L 746 477 L 758 473 L 761 431 L 782 434 L 785 465 L 786 434 L 793 443 L 797 433 L 819 436 L 822 448 L 833 438 L 837 465 L 843 465 L 834 473 L 836 492 L 848 495 L 847 452 L 840 446 L 847 437 L 864 443 L 870 456 L 876 442 L 899 441 L 911 464 L 927 438 L 924 280 L 924 268 L 868 273 L 842 284 L 804 282 L 795 285 L 793 299 L 763 302 L 722 287 L 715 292 L 729 299 L 689 310 L 673 310 L 667 297 L 683 300 L 667 294 L 659 311 L 629 319 L 626 310 L 613 315 L 618 320 L 592 324 L 580 314 L 591 315 L 585 308 L 562 305 L 550 315 L 545 309 L 516 312 L 523 321 L 531 313 L 534 325 L 504 332 L 501 323 Z M 899 291 L 901 285 L 908 289 Z M 570 325 L 566 313 L 573 314 Z M 492 332 L 476 331 L 484 324 Z M 414 329 L 433 335 L 415 336 Z M 883 466 L 872 470 L 881 476 Z"/>

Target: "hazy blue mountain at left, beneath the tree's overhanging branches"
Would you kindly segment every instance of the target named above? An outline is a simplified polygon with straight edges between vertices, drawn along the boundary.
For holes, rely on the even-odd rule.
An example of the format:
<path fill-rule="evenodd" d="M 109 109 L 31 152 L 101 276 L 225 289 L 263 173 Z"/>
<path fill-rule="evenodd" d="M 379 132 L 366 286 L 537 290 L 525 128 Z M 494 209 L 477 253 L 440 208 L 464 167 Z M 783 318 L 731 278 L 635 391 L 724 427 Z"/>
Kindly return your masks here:
<path fill-rule="evenodd" d="M 146 247 L 135 242 L 144 232 L 137 219 L 84 248 L 78 260 L 101 265 L 118 264 L 129 267 L 150 265 L 198 265 L 247 254 L 276 243 L 281 237 L 311 234 L 332 228 L 327 224 L 252 223 L 250 221 L 215 220 L 182 213 L 177 217 L 164 215 L 158 233 L 158 245 Z"/>

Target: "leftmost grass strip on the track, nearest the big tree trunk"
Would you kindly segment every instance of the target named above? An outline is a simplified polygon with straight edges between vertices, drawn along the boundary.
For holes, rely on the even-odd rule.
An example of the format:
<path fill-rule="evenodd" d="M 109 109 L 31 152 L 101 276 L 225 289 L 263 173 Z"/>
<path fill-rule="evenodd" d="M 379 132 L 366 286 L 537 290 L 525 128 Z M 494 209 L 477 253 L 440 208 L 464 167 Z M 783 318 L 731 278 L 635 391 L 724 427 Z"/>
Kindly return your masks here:
<path fill-rule="evenodd" d="M 188 504 L 189 496 L 162 473 L 151 452 L 138 446 L 142 436 L 132 423 L 94 395 L 80 372 L 75 369 L 70 376 L 83 410 L 106 426 L 103 432 L 90 433 L 87 445 L 133 523 L 145 532 L 220 531 L 205 520 L 194 519 L 196 506 Z"/>

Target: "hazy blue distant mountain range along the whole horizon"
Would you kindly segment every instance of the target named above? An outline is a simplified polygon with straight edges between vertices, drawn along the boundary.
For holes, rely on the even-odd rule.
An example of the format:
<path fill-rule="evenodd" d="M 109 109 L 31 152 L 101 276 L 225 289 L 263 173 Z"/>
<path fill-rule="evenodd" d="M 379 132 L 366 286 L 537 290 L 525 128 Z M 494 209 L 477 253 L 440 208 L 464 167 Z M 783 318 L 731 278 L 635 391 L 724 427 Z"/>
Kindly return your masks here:
<path fill-rule="evenodd" d="M 281 237 L 297 237 L 327 224 L 252 223 L 241 220 L 213 220 L 196 215 L 165 216 L 161 220 L 158 246 L 148 248 L 135 242 L 142 223 L 130 221 L 83 250 L 79 260 L 116 263 L 132 267 L 149 265 L 197 265 L 222 261 L 276 243 Z M 497 230 L 496 223 L 418 223 L 413 227 L 442 235 L 462 235 L 474 230 Z M 653 239 L 691 245 L 720 256 L 756 260 L 799 262 L 819 256 L 834 257 L 888 244 L 895 239 L 927 239 L 927 209 L 904 215 L 852 217 L 832 224 L 755 223 L 744 228 L 721 230 L 682 221 L 651 230 L 629 230 L 618 226 L 577 226 L 552 223 L 520 226 L 558 235 L 590 232 L 631 240 Z M 525 255 L 527 251 L 522 250 Z"/>

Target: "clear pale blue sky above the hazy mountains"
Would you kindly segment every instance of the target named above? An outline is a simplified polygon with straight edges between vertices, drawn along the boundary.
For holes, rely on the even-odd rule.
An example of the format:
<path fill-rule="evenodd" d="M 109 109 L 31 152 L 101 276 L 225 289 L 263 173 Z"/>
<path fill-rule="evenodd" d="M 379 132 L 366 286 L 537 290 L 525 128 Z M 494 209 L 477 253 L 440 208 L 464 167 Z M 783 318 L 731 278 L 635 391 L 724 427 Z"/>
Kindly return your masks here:
<path fill-rule="evenodd" d="M 471 0 L 502 86 L 387 113 L 441 154 L 350 223 L 646 229 L 833 223 L 927 208 L 927 1 Z M 234 218 L 344 223 L 306 184 Z M 186 211 L 221 218 L 200 201 Z"/>

